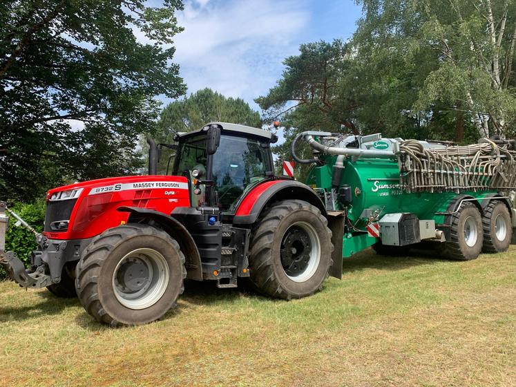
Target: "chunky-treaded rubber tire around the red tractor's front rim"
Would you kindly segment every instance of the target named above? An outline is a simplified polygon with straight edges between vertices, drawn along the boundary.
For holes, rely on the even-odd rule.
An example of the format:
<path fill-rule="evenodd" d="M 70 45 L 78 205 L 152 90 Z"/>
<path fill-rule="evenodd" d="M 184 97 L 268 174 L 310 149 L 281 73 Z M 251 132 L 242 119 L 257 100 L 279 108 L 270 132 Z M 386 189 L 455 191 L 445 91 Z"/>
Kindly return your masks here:
<path fill-rule="evenodd" d="M 115 272 L 122 272 L 126 264 L 132 265 L 131 254 L 137 256 L 140 251 L 160 257 L 162 270 L 153 271 L 160 273 L 156 281 L 161 286 L 162 295 L 148 307 L 135 309 L 124 305 L 128 301 L 120 298 L 120 285 L 115 285 L 118 279 Z M 131 260 L 126 258 L 128 256 Z M 163 317 L 176 305 L 187 276 L 184 261 L 178 243 L 160 229 L 137 224 L 114 227 L 97 236 L 84 250 L 77 264 L 77 295 L 86 312 L 100 323 L 111 326 L 150 323 Z M 134 258 L 134 262 L 137 262 L 137 258 Z M 164 280 L 160 281 L 160 276 L 162 279 L 164 276 Z M 153 279 L 153 275 L 149 275 L 149 278 Z M 153 286 L 157 285 L 149 285 L 149 293 L 152 293 L 150 289 Z M 146 294 L 146 290 L 143 290 L 143 294 Z"/>

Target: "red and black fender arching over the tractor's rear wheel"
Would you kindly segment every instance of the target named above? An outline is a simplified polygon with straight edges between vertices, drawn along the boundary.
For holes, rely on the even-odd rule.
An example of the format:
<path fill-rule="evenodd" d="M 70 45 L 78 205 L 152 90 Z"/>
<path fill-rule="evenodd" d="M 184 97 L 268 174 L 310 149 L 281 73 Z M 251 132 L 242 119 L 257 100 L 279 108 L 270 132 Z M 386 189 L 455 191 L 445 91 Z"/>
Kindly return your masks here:
<path fill-rule="evenodd" d="M 247 193 L 236 209 L 235 225 L 252 225 L 258 220 L 262 210 L 271 202 L 285 199 L 305 200 L 327 216 L 321 199 L 313 189 L 295 180 L 267 180 Z"/>

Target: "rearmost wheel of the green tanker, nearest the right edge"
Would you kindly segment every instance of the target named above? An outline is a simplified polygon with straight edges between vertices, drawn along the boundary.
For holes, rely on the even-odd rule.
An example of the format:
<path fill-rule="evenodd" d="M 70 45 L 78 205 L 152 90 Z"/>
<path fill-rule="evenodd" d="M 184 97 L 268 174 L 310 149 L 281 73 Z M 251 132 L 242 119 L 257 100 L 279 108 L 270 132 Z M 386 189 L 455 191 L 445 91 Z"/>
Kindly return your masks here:
<path fill-rule="evenodd" d="M 505 252 L 509 248 L 513 236 L 513 225 L 510 221 L 509 210 L 499 200 L 492 200 L 484 211 L 483 252 Z"/>

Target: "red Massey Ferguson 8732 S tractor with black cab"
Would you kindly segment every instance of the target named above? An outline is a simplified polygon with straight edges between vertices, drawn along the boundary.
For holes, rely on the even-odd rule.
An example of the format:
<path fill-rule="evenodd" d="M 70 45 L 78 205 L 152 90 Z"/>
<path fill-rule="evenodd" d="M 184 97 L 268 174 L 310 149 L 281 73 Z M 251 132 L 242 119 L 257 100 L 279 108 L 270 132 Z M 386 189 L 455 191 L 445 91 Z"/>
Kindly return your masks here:
<path fill-rule="evenodd" d="M 218 287 L 249 279 L 262 294 L 292 299 L 320 290 L 329 272 L 340 278 L 341 252 L 332 257 L 321 198 L 274 176 L 275 135 L 212 122 L 175 140 L 147 140 L 149 176 L 48 191 L 29 270 L 14 252 L 3 252 L 2 223 L 0 263 L 10 277 L 57 296 L 77 294 L 109 325 L 160 319 L 176 305 L 184 279 Z M 160 146 L 176 150 L 170 176 L 156 174 Z M 0 220 L 4 211 L 5 203 Z"/>

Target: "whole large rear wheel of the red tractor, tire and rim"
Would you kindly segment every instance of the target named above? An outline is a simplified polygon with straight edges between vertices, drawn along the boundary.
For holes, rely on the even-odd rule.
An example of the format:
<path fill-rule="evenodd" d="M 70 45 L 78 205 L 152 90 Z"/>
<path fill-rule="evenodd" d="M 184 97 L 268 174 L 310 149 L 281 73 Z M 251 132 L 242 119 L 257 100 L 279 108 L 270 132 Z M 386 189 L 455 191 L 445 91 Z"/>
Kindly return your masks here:
<path fill-rule="evenodd" d="M 277 202 L 253 232 L 253 287 L 280 299 L 300 299 L 321 290 L 332 265 L 331 239 L 327 220 L 316 207 L 302 200 Z"/>

